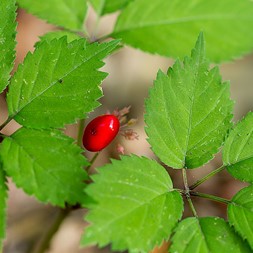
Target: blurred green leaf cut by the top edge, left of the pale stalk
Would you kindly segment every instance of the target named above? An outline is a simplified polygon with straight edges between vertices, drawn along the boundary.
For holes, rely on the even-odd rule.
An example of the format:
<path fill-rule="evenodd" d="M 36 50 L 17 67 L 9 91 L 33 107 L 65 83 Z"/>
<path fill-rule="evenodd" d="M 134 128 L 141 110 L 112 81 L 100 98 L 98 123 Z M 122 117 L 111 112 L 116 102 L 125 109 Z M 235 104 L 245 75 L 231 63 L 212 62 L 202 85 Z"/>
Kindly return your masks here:
<path fill-rule="evenodd" d="M 86 0 L 17 0 L 21 8 L 57 26 L 82 31 L 87 12 Z"/>

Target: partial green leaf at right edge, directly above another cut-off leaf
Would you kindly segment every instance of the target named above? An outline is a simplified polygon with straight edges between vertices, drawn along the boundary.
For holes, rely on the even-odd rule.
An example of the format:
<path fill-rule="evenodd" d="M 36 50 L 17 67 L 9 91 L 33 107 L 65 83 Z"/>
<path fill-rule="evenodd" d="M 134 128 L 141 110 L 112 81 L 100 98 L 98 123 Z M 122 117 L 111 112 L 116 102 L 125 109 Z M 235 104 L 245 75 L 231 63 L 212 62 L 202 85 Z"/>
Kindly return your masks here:
<path fill-rule="evenodd" d="M 233 177 L 253 183 L 252 112 L 229 133 L 223 148 L 223 163 Z"/>

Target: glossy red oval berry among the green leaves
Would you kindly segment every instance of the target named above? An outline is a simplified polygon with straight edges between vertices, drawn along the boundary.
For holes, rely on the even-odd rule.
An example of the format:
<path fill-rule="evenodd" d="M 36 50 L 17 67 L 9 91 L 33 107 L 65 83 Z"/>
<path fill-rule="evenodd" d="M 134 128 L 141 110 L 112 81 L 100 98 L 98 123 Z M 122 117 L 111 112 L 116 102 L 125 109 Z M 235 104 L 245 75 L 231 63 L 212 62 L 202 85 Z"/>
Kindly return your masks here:
<path fill-rule="evenodd" d="M 96 117 L 84 130 L 83 146 L 92 152 L 102 150 L 115 138 L 119 127 L 118 118 L 112 114 Z"/>

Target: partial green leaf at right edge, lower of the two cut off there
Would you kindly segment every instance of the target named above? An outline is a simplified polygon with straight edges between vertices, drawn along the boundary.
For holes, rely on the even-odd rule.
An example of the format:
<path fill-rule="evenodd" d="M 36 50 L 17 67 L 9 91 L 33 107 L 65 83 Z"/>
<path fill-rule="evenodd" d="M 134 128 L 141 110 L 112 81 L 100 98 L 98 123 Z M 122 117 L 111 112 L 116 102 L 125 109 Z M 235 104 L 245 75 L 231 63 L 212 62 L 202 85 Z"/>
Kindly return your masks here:
<path fill-rule="evenodd" d="M 229 223 L 253 250 L 253 186 L 239 191 L 228 205 Z"/>

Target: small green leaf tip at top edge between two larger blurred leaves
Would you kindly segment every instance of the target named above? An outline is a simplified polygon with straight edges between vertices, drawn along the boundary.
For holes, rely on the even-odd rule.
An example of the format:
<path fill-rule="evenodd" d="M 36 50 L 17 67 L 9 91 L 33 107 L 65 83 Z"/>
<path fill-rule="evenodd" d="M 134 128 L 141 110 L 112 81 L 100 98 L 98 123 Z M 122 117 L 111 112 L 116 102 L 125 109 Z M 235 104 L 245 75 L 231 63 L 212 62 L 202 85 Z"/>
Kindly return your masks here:
<path fill-rule="evenodd" d="M 125 8 L 133 0 L 90 0 L 99 16 Z"/>

